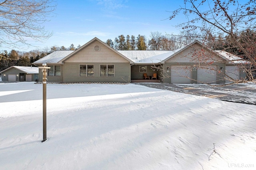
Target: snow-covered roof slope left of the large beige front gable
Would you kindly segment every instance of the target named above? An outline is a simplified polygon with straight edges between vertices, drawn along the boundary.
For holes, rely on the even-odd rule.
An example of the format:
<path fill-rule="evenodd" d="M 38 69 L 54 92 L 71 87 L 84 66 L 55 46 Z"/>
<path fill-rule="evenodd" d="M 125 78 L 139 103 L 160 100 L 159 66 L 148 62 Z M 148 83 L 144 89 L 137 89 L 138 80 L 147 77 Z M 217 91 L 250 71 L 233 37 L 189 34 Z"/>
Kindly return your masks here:
<path fill-rule="evenodd" d="M 39 63 L 58 63 L 60 60 L 62 60 L 63 58 L 65 58 L 66 56 L 70 55 L 73 52 L 74 52 L 73 50 L 54 51 L 54 52 L 50 53 L 49 55 L 46 55 L 42 59 L 39 59 L 38 61 L 35 61 L 34 63 L 35 64 L 37 64 L 37 63 L 38 64 Z"/>

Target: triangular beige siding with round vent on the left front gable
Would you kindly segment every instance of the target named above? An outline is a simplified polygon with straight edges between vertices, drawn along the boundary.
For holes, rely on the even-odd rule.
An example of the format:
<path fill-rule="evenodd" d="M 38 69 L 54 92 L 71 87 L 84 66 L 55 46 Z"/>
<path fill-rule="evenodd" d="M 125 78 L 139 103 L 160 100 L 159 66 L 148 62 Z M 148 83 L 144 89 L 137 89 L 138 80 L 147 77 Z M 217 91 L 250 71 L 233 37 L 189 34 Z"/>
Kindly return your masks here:
<path fill-rule="evenodd" d="M 94 51 L 95 45 L 100 46 L 100 51 Z M 67 59 L 65 63 L 99 63 L 103 61 L 107 63 L 129 62 L 105 45 L 102 45 L 98 41 L 94 41 L 92 44 Z"/>

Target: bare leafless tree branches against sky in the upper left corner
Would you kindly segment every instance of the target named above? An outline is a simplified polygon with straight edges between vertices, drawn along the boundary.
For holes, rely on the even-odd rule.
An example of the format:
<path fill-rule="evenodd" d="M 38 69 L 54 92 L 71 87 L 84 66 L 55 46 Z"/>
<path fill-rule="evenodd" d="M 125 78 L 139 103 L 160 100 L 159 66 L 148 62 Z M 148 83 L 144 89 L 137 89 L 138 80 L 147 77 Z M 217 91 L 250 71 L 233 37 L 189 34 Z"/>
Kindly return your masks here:
<path fill-rule="evenodd" d="M 28 39 L 48 39 L 52 33 L 42 24 L 54 9 L 53 0 L 1 0 L 0 47 L 30 46 Z"/>

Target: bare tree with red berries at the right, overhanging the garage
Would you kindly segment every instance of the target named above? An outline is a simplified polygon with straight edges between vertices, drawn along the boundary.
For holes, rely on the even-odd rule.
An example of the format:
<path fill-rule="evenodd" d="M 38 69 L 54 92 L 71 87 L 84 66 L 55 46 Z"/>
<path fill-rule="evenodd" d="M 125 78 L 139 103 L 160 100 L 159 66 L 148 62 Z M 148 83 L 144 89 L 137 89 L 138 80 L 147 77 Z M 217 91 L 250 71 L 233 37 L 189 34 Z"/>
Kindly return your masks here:
<path fill-rule="evenodd" d="M 255 0 L 248 0 L 248 2 L 242 0 L 184 0 L 184 5 L 172 12 L 170 20 L 179 14 L 184 14 L 188 19 L 184 23 L 176 25 L 182 29 L 184 35 L 195 31 L 200 32 L 200 35 L 196 35 L 197 38 L 209 49 L 221 49 L 241 57 L 247 63 L 236 65 L 247 73 L 246 81 L 254 80 L 256 41 L 252 38 L 250 31 L 255 32 L 256 29 Z M 241 32 L 246 32 L 246 30 L 249 33 L 242 36 Z M 237 53 L 230 51 L 232 48 L 235 48 Z M 194 56 L 200 57 L 196 53 Z M 239 61 L 241 58 L 233 59 L 232 62 Z M 203 61 L 207 60 L 204 58 Z M 198 60 L 197 67 L 200 67 L 199 64 L 200 60 Z M 245 80 L 232 80 L 231 78 L 230 81 L 245 82 Z"/>

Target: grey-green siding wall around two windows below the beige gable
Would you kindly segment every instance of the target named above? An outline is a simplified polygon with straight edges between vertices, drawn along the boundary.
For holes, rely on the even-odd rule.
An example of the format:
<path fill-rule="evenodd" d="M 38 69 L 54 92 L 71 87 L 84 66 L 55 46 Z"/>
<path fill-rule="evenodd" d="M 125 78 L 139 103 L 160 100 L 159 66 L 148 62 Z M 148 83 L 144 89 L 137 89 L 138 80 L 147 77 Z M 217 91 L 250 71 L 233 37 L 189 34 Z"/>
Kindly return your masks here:
<path fill-rule="evenodd" d="M 127 62 L 127 61 L 126 61 Z M 79 76 L 80 64 L 94 64 L 94 76 Z M 114 64 L 114 77 L 100 76 L 101 64 Z M 130 82 L 130 63 L 65 63 L 65 82 Z"/>

